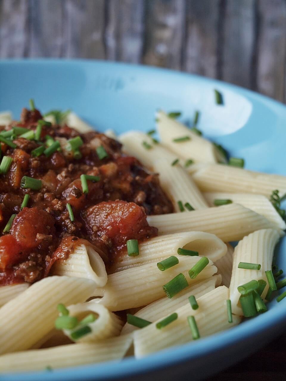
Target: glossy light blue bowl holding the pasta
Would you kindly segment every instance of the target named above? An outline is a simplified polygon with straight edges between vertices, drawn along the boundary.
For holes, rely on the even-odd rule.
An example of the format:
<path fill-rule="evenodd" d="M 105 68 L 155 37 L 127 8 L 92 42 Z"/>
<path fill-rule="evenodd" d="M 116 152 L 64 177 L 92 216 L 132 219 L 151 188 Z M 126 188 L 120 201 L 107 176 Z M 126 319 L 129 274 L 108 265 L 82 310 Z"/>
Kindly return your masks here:
<path fill-rule="evenodd" d="M 214 89 L 224 105 L 214 102 Z M 286 107 L 259 94 L 217 80 L 153 67 L 84 60 L 9 60 L 0 62 L 0 110 L 18 118 L 29 98 L 44 112 L 72 109 L 104 131 L 149 130 L 157 108 L 182 110 L 183 120 L 201 111 L 204 135 L 244 157 L 246 168 L 286 175 Z M 278 264 L 286 269 L 286 241 Z M 172 347 L 144 359 L 86 365 L 53 371 L 1 375 L 2 381 L 174 380 L 205 378 L 243 359 L 286 326 L 286 299 L 269 311 L 228 331 Z"/>

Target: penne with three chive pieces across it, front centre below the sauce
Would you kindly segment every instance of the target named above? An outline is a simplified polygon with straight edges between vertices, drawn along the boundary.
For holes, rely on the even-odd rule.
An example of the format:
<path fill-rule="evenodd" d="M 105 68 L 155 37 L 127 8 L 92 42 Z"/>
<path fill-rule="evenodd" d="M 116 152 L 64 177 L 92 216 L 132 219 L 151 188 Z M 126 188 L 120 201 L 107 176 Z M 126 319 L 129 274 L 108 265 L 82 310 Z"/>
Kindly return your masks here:
<path fill-rule="evenodd" d="M 217 268 L 212 266 L 212 261 L 209 261 L 207 267 L 195 279 L 191 279 L 188 272 L 200 257 L 184 255 L 177 257 L 179 263 L 166 271 L 160 271 L 157 263 L 153 262 L 108 275 L 106 286 L 95 290 L 93 296 L 102 296 L 95 301 L 110 311 L 146 306 L 165 296 L 163 285 L 180 273 L 185 275 L 188 284 L 191 285 L 217 272 Z"/>

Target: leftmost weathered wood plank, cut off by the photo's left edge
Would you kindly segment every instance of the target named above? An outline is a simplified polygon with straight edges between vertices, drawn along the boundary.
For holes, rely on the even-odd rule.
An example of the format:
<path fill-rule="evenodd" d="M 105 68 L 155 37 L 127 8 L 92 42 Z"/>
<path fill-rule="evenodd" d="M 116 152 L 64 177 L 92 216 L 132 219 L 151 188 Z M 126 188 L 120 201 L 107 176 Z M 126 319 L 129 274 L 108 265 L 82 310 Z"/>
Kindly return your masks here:
<path fill-rule="evenodd" d="M 28 0 L 0 1 L 0 57 L 27 55 L 29 41 Z"/>

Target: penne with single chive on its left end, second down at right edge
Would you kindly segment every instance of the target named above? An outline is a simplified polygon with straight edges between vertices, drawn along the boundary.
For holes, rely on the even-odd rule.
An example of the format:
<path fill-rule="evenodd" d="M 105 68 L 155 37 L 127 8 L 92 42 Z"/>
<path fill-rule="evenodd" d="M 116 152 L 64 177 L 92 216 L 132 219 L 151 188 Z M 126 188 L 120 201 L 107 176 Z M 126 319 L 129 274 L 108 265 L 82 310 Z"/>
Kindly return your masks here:
<path fill-rule="evenodd" d="M 242 205 L 244 208 L 251 209 L 264 216 L 275 224 L 278 229 L 286 229 L 285 221 L 265 196 L 251 193 L 209 192 L 204 193 L 204 197 L 211 207 L 214 206 L 214 200 L 231 200 L 236 204 Z"/>

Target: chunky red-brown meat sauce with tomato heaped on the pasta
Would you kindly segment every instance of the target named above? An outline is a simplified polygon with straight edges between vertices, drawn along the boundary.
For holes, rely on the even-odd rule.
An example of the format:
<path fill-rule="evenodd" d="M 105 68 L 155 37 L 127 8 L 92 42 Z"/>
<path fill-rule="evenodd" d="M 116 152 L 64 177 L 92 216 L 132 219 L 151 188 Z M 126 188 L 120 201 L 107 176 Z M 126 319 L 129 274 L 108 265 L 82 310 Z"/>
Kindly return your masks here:
<path fill-rule="evenodd" d="M 42 118 L 39 110 L 23 109 L 20 122 L 0 130 L 18 126 L 35 131 Z M 60 148 L 48 157 L 31 154 L 45 144 L 47 136 L 59 141 Z M 67 144 L 77 136 L 83 144 L 76 156 L 67 150 Z M 67 258 L 83 239 L 94 245 L 108 266 L 127 240 L 157 235 L 146 215 L 173 212 L 158 175 L 136 158 L 122 154 L 121 144 L 104 134 L 81 134 L 67 125 L 42 125 L 40 142 L 15 136 L 13 143 L 15 148 L 1 142 L 2 156 L 13 162 L 7 173 L 0 175 L 0 231 L 12 214 L 16 216 L 9 232 L 0 236 L 0 285 L 33 283 L 47 276 L 53 263 Z M 104 148 L 106 157 L 99 158 L 98 147 Z M 87 193 L 82 189 L 82 174 L 99 179 L 87 180 Z M 40 179 L 41 188 L 23 189 L 23 176 Z M 29 201 L 21 210 L 25 194 Z"/>

